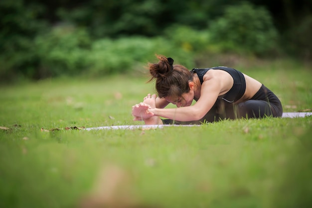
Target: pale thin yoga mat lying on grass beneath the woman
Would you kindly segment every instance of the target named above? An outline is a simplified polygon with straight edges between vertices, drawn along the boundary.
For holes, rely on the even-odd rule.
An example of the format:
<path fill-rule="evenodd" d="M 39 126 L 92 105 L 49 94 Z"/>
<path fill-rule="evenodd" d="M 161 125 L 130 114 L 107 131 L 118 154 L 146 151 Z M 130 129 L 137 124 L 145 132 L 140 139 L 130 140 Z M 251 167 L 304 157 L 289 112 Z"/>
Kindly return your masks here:
<path fill-rule="evenodd" d="M 311 116 L 312 112 L 284 112 L 282 117 L 283 118 L 296 118 L 296 117 L 305 117 Z M 150 128 L 163 128 L 163 127 L 171 127 L 171 126 L 200 126 L 200 125 L 117 125 L 117 126 L 100 126 L 100 127 L 92 127 L 92 128 L 85 128 L 85 130 L 101 130 L 101 129 L 150 129 Z"/>

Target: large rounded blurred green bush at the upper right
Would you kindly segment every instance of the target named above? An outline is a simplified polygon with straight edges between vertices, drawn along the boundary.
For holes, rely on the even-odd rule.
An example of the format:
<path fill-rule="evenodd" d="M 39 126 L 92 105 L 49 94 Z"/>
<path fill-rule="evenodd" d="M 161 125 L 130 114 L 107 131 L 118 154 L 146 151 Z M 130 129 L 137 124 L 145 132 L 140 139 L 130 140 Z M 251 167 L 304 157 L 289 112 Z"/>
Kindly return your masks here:
<path fill-rule="evenodd" d="M 224 49 L 237 48 L 263 55 L 278 46 L 278 33 L 270 13 L 248 2 L 228 6 L 222 17 L 211 23 L 212 40 Z"/>

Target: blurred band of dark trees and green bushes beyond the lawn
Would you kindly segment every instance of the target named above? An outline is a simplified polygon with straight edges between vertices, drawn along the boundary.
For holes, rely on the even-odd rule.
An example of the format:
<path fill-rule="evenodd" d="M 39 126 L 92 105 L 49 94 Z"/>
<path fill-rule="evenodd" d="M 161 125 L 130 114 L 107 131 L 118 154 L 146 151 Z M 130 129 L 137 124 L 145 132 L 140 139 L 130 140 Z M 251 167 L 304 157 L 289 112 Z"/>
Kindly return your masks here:
<path fill-rule="evenodd" d="M 312 58 L 310 0 L 0 0 L 0 81 Z"/>

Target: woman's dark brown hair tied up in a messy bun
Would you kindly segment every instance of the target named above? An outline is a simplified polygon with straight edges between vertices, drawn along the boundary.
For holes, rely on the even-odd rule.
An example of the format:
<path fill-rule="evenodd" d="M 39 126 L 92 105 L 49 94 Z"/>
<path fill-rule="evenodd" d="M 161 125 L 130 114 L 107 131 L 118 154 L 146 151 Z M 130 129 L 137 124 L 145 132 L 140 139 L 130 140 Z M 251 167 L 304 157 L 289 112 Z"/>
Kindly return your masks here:
<path fill-rule="evenodd" d="M 172 65 L 173 59 L 162 55 L 156 55 L 158 63 L 149 63 L 152 78 L 149 82 L 156 80 L 156 91 L 159 98 L 168 96 L 181 97 L 188 93 L 190 88 L 188 82 L 192 81 L 192 73 L 182 65 Z"/>

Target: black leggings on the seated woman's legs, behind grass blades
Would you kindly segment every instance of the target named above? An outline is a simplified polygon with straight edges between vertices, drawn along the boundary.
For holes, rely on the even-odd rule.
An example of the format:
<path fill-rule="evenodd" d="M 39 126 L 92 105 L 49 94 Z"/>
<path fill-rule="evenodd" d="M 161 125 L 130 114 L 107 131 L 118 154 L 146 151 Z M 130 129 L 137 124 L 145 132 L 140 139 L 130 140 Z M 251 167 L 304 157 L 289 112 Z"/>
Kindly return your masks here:
<path fill-rule="evenodd" d="M 200 120 L 180 122 L 163 119 L 162 122 L 164 124 L 200 124 L 224 119 L 282 117 L 282 114 L 283 108 L 278 97 L 262 85 L 260 90 L 244 103 L 231 104 L 218 99 L 209 112 Z"/>

